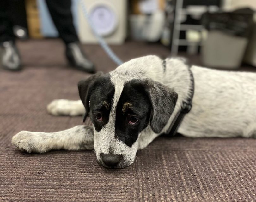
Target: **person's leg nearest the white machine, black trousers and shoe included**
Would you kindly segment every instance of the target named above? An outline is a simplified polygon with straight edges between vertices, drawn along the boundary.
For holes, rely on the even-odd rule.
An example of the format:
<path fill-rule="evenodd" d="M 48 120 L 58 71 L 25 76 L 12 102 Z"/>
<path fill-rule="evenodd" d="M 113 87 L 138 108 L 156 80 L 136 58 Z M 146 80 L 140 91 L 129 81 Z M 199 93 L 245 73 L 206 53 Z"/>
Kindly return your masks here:
<path fill-rule="evenodd" d="M 46 0 L 46 3 L 59 36 L 66 44 L 66 56 L 70 64 L 79 70 L 94 72 L 93 63 L 86 58 L 79 46 L 71 13 L 71 0 Z"/>

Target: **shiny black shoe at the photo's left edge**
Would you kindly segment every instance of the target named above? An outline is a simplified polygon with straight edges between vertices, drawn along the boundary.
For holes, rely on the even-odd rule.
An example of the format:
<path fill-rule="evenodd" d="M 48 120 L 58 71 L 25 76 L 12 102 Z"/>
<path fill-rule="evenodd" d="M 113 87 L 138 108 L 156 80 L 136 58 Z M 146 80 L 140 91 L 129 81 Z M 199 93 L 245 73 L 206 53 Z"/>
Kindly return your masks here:
<path fill-rule="evenodd" d="M 21 58 L 14 42 L 6 41 L 0 44 L 0 65 L 6 70 L 21 70 Z"/>

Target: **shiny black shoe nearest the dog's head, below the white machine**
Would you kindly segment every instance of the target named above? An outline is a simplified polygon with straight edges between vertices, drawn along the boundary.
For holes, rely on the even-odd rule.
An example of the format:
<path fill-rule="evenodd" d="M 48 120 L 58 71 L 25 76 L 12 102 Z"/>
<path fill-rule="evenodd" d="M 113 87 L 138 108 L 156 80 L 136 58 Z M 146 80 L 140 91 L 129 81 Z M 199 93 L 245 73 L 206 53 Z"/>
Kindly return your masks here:
<path fill-rule="evenodd" d="M 94 73 L 95 68 L 93 63 L 86 58 L 78 43 L 67 44 L 66 56 L 70 65 L 78 70 Z"/>

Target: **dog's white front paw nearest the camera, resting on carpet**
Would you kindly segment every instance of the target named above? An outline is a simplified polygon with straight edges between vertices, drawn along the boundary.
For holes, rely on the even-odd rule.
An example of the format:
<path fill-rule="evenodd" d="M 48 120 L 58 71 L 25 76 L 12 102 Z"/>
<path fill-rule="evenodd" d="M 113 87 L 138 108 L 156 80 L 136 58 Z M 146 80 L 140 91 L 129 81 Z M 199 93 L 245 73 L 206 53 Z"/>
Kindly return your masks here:
<path fill-rule="evenodd" d="M 21 151 L 28 153 L 44 153 L 48 151 L 47 141 L 40 132 L 21 131 L 12 137 L 12 144 Z"/>

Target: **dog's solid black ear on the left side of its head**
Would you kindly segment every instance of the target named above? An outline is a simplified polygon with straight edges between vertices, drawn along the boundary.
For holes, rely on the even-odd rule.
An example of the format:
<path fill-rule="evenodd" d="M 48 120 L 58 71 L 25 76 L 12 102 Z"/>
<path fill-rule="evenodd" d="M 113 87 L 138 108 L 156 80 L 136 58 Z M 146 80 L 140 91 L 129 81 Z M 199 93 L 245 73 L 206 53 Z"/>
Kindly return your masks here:
<path fill-rule="evenodd" d="M 80 99 L 82 100 L 82 103 L 85 107 L 85 115 L 83 118 L 83 122 L 85 121 L 85 119 L 88 116 L 88 113 L 90 111 L 89 90 L 92 87 L 92 85 L 94 84 L 94 82 L 101 76 L 103 76 L 103 72 L 97 72 L 96 74 L 90 76 L 88 79 L 79 81 L 77 84 Z"/>

